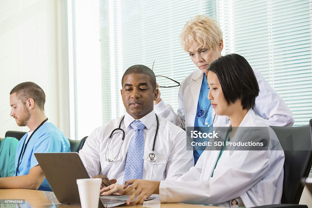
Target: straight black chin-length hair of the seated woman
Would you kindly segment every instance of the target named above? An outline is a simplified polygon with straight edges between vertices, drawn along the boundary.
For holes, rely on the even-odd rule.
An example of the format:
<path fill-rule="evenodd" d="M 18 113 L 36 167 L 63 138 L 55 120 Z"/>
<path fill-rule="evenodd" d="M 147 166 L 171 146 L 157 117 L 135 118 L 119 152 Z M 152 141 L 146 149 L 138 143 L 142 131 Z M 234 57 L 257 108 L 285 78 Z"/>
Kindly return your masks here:
<path fill-rule="evenodd" d="M 241 99 L 243 109 L 255 107 L 259 85 L 251 66 L 243 56 L 221 56 L 211 63 L 208 70 L 217 75 L 228 105 Z"/>

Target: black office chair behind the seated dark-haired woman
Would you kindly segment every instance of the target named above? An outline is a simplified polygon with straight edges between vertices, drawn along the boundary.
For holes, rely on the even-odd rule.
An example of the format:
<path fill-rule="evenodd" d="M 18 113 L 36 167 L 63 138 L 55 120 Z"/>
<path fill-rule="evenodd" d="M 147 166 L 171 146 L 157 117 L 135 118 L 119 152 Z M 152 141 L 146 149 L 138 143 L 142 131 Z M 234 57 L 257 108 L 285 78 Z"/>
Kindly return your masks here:
<path fill-rule="evenodd" d="M 304 188 L 301 178 L 309 176 L 312 165 L 312 119 L 304 126 L 271 128 L 285 153 L 282 204 L 257 208 L 307 208 L 298 204 Z"/>

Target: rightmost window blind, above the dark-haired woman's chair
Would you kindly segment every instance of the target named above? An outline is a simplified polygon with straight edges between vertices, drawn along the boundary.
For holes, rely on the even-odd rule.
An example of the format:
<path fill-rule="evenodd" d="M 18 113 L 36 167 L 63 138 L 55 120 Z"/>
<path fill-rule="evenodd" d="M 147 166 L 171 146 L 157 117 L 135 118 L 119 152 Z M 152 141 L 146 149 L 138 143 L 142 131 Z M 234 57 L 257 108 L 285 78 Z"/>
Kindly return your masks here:
<path fill-rule="evenodd" d="M 311 1 L 222 0 L 219 10 L 223 5 L 224 53 L 244 56 L 286 102 L 294 126 L 307 125 L 312 118 Z"/>

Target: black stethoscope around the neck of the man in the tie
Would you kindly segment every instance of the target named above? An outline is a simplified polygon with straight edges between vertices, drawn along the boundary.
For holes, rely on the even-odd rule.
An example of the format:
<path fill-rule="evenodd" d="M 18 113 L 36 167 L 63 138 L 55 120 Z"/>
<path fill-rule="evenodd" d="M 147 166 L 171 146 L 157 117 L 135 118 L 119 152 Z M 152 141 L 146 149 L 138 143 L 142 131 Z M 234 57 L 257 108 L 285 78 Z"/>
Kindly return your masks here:
<path fill-rule="evenodd" d="M 155 114 L 155 115 L 156 115 L 156 114 Z M 122 145 L 122 143 L 124 142 L 125 133 L 124 133 L 124 130 L 123 130 L 122 128 L 120 128 L 121 123 L 122 123 L 123 120 L 124 120 L 124 116 L 122 117 L 122 119 L 121 119 L 121 121 L 120 121 L 120 123 L 119 123 L 119 127 L 118 127 L 118 128 L 115 128 L 115 129 L 112 131 L 112 133 L 110 133 L 110 139 L 108 140 L 108 144 L 107 144 L 107 148 L 106 148 L 106 152 L 105 152 L 105 161 L 106 161 L 106 162 L 113 162 L 113 161 L 116 159 L 116 157 L 117 157 L 117 155 L 118 155 L 118 153 L 119 153 L 119 151 L 120 151 L 121 145 Z M 148 160 L 149 162 L 155 162 L 155 161 L 156 161 L 156 155 L 154 154 L 154 149 L 155 149 L 156 137 L 157 137 L 157 134 L 158 134 L 158 127 L 159 127 L 159 120 L 158 120 L 158 116 L 157 116 L 157 115 L 156 115 L 156 120 L 157 120 L 157 128 L 156 128 L 155 137 L 154 137 L 153 149 L 152 149 L 152 152 L 149 153 L 149 156 L 147 157 L 147 160 Z M 114 159 L 111 160 L 110 158 L 108 158 L 108 149 L 110 148 L 110 142 L 111 142 L 113 133 L 114 133 L 115 131 L 117 131 L 117 130 L 122 131 L 122 138 L 121 138 L 121 143 L 120 143 L 119 148 L 118 148 L 118 152 L 116 153 L 116 156 L 114 157 Z"/>

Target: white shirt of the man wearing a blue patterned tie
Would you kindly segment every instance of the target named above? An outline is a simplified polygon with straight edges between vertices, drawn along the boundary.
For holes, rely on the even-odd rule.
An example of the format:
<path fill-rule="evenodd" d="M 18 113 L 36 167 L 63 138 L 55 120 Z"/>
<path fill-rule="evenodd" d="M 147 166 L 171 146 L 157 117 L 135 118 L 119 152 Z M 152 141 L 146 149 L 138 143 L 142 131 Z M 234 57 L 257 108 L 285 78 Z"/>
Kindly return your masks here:
<path fill-rule="evenodd" d="M 121 117 L 122 118 L 122 117 Z M 118 152 L 122 134 L 114 133 L 108 149 L 108 158 L 115 160 L 107 162 L 105 153 L 108 140 L 113 129 L 118 128 L 121 118 L 111 120 L 107 125 L 96 128 L 86 139 L 83 148 L 79 151 L 79 156 L 85 165 L 90 177 L 102 174 L 109 179 L 117 179 L 118 184 L 122 184 L 124 169 L 129 142 L 134 135 L 134 130 L 130 126 L 135 119 L 129 114 L 125 114 L 121 128 L 125 131 L 124 143 Z M 144 164 L 143 179 L 165 180 L 176 179 L 194 166 L 193 151 L 187 151 L 187 137 L 183 129 L 175 126 L 167 119 L 159 119 L 158 135 L 156 138 L 154 154 L 157 159 L 149 162 L 147 157 L 152 152 L 154 136 L 157 127 L 154 110 L 139 119 L 144 123 Z"/>

